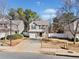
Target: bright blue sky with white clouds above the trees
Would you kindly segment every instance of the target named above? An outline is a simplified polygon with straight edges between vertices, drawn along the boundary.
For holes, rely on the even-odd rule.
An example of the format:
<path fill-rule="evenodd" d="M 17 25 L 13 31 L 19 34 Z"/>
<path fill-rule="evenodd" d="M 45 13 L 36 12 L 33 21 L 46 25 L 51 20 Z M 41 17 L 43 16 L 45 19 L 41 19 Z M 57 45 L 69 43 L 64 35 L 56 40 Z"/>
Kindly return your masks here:
<path fill-rule="evenodd" d="M 55 17 L 56 11 L 60 7 L 60 0 L 7 0 L 7 9 L 31 9 L 43 19 L 50 19 L 51 16 Z"/>

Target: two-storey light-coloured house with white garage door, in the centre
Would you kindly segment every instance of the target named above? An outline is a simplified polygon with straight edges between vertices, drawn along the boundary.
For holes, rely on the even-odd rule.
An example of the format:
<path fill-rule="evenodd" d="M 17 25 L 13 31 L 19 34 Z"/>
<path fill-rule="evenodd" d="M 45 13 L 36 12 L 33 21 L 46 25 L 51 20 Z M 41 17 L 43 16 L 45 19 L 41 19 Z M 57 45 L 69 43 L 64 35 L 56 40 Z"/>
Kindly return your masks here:
<path fill-rule="evenodd" d="M 48 21 L 39 20 L 30 23 L 29 37 L 34 39 L 42 39 L 48 36 Z"/>

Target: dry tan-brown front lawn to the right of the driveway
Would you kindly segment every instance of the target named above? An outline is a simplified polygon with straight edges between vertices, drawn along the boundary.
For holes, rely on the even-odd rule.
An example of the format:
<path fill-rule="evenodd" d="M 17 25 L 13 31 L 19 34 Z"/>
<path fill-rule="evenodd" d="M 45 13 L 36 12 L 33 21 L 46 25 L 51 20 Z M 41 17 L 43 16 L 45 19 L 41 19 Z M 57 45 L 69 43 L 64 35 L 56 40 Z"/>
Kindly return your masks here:
<path fill-rule="evenodd" d="M 64 49 L 66 45 L 68 50 L 79 52 L 79 42 L 74 45 L 71 41 L 56 38 L 49 38 L 48 41 L 42 41 L 42 48 Z"/>

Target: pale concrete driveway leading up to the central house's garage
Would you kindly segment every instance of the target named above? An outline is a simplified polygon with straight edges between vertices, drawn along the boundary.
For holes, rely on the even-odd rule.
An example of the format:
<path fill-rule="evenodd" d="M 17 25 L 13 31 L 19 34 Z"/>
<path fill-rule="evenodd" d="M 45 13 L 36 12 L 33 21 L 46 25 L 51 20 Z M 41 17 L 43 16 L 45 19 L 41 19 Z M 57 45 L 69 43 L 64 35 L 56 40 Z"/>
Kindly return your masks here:
<path fill-rule="evenodd" d="M 26 39 L 23 40 L 20 44 L 11 49 L 7 50 L 9 52 L 37 52 L 40 50 L 41 41 L 40 40 L 32 40 Z"/>

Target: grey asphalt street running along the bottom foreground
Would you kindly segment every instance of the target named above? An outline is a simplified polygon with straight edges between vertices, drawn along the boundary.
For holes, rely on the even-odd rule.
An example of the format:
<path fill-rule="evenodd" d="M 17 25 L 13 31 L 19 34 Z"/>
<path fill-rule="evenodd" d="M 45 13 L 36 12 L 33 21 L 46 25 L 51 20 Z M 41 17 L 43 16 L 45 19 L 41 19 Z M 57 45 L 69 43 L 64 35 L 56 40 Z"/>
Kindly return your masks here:
<path fill-rule="evenodd" d="M 53 56 L 28 52 L 0 52 L 0 59 L 79 59 L 75 57 Z"/>

